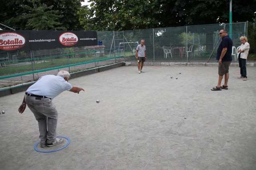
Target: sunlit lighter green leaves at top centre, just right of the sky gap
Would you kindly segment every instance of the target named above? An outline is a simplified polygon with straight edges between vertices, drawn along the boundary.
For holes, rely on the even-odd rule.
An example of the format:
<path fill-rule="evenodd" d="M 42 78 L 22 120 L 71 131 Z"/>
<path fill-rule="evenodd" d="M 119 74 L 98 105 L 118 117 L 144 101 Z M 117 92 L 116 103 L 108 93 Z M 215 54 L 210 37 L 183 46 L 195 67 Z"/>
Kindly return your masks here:
<path fill-rule="evenodd" d="M 157 26 L 159 21 L 154 14 L 159 14 L 155 8 L 158 0 L 91 0 L 90 9 L 86 9 L 88 18 L 80 16 L 80 23 L 94 25 L 91 30 L 113 31 L 129 29 L 146 29 Z M 82 13 L 84 9 L 80 9 Z"/>

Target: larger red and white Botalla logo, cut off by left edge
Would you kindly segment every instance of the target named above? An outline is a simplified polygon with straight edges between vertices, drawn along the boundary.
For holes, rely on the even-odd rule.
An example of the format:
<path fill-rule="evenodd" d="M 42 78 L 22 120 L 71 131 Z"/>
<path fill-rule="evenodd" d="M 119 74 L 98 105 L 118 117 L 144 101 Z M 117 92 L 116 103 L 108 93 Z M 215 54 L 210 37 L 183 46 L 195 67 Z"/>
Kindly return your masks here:
<path fill-rule="evenodd" d="M 0 49 L 16 50 L 26 44 L 26 39 L 18 33 L 8 32 L 0 33 Z"/>

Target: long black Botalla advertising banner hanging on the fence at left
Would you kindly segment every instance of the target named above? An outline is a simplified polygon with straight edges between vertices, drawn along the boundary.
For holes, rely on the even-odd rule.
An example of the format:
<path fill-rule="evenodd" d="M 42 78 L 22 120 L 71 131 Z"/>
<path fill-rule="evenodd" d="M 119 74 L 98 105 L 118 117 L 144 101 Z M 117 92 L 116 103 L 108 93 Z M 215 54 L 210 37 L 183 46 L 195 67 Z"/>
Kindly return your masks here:
<path fill-rule="evenodd" d="M 0 53 L 98 45 L 96 31 L 0 30 Z"/>

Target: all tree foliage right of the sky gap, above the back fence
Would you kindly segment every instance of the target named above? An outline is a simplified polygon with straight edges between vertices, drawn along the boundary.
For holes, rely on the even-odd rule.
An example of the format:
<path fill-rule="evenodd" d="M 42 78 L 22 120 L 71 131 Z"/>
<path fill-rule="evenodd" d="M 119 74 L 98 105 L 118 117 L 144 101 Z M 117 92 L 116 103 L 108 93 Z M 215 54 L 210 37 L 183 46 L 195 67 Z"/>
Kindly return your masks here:
<path fill-rule="evenodd" d="M 230 0 L 90 0 L 82 7 L 86 30 L 131 30 L 228 23 Z M 253 21 L 256 0 L 233 0 L 233 22 Z"/>

